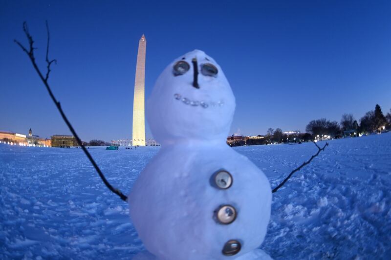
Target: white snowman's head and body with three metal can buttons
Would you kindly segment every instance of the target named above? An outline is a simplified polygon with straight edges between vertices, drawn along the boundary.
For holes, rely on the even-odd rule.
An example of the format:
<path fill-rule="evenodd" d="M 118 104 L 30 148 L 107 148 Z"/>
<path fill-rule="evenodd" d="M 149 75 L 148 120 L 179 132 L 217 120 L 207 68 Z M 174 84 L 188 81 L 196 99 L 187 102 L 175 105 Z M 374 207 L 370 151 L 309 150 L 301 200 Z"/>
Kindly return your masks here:
<path fill-rule="evenodd" d="M 146 107 L 161 149 L 128 201 L 153 258 L 268 259 L 258 248 L 270 218 L 270 184 L 226 144 L 235 97 L 216 61 L 199 50 L 180 56 L 159 76 Z"/>

